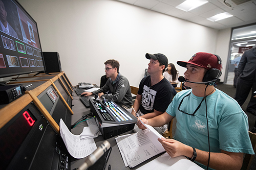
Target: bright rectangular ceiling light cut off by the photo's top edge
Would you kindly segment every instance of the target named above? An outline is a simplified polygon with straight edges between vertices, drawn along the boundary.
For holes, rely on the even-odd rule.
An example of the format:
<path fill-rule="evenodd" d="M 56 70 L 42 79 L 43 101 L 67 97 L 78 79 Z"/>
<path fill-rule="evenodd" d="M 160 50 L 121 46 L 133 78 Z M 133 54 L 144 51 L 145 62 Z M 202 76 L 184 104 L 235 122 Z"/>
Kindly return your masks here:
<path fill-rule="evenodd" d="M 180 10 L 183 10 L 183 11 L 191 11 L 195 8 L 198 8 L 204 4 L 208 3 L 208 1 L 206 0 L 187 0 L 187 1 L 184 1 L 183 3 L 181 3 L 180 5 L 178 5 L 177 7 L 175 8 L 178 8 Z"/>

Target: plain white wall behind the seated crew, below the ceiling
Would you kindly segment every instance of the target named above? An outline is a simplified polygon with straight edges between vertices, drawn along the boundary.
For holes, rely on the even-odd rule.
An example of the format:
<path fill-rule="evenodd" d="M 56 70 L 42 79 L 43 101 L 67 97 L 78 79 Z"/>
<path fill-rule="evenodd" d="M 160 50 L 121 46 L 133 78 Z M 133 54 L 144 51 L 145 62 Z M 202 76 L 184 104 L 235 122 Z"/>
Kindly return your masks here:
<path fill-rule="evenodd" d="M 138 87 L 147 68 L 146 53 L 165 54 L 183 75 L 185 68 L 176 61 L 187 61 L 197 52 L 225 54 L 217 44 L 229 43 L 218 38 L 218 30 L 117 1 L 19 2 L 37 22 L 42 51 L 60 54 L 62 70 L 73 85 L 99 85 L 104 62 L 116 59 L 121 74 Z"/>

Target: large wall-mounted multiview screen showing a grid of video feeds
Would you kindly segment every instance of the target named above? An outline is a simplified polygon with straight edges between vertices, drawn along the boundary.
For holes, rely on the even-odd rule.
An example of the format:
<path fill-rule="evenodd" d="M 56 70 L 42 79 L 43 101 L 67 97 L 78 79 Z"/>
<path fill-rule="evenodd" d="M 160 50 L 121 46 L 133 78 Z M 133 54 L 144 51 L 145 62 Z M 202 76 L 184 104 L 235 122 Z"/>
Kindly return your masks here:
<path fill-rule="evenodd" d="M 0 78 L 45 70 L 35 20 L 16 1 L 0 0 Z"/>

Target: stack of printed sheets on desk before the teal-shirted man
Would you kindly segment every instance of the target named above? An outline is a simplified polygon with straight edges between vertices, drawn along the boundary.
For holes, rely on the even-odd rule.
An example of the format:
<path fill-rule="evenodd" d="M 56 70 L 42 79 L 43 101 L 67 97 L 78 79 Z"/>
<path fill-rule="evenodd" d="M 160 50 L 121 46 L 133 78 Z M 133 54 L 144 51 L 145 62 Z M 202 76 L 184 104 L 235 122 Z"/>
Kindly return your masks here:
<path fill-rule="evenodd" d="M 125 167 L 134 167 L 165 151 L 162 144 L 157 140 L 163 136 L 150 125 L 144 126 L 147 129 L 116 138 Z"/>

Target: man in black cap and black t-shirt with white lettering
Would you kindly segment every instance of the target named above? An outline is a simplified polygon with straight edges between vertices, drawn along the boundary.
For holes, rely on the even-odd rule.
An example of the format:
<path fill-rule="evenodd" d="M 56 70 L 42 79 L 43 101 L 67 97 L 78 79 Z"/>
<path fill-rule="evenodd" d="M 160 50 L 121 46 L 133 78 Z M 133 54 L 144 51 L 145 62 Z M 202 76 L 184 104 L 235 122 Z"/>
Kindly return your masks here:
<path fill-rule="evenodd" d="M 144 77 L 139 85 L 139 91 L 134 102 L 132 114 L 146 119 L 155 117 L 165 112 L 174 96 L 174 87 L 163 77 L 163 72 L 168 65 L 165 55 L 146 54 L 150 60 L 147 72 L 150 76 Z M 155 128 L 163 134 L 167 125 Z"/>

